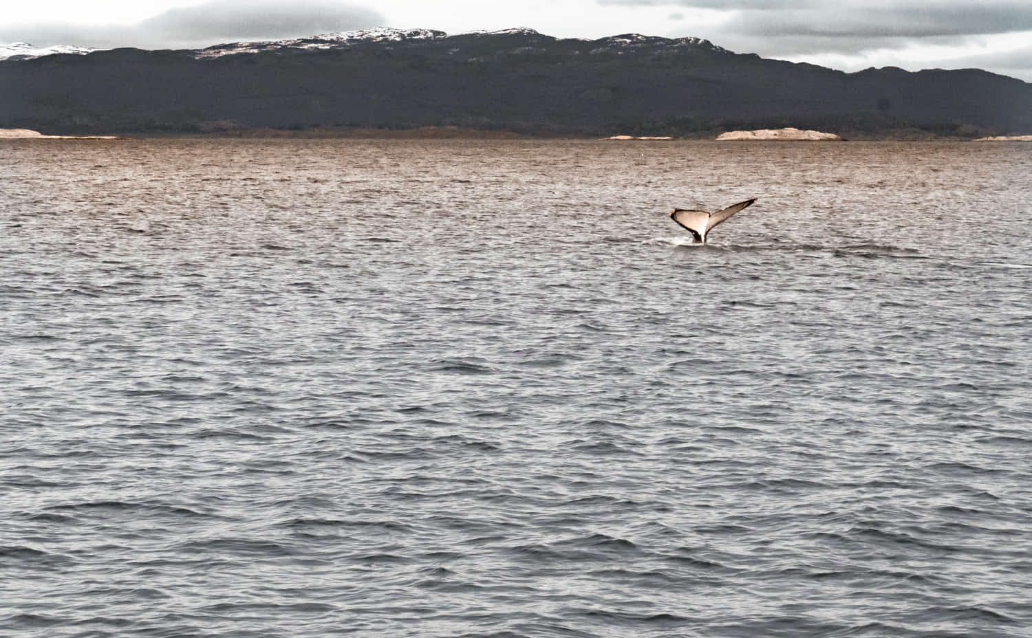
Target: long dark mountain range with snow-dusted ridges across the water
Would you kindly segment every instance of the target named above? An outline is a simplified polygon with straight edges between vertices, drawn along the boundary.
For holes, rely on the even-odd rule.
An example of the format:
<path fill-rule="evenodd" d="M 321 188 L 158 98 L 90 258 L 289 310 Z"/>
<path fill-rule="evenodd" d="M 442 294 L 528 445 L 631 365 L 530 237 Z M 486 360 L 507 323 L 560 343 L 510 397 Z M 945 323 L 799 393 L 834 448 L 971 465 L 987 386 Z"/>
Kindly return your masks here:
<path fill-rule="evenodd" d="M 381 28 L 190 51 L 19 43 L 2 57 L 0 128 L 54 134 L 427 126 L 538 135 L 784 126 L 1032 133 L 1032 85 L 1011 77 L 844 73 L 699 38 Z"/>

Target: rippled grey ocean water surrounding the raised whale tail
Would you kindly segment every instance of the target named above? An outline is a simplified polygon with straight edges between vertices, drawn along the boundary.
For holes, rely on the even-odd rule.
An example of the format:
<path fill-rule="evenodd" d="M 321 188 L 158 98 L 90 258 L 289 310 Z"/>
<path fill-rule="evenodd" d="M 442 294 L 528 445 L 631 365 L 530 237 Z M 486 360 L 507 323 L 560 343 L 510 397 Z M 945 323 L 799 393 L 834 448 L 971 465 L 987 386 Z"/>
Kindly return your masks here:
<path fill-rule="evenodd" d="M 3 142 L 0 635 L 1032 636 L 1030 174 Z"/>

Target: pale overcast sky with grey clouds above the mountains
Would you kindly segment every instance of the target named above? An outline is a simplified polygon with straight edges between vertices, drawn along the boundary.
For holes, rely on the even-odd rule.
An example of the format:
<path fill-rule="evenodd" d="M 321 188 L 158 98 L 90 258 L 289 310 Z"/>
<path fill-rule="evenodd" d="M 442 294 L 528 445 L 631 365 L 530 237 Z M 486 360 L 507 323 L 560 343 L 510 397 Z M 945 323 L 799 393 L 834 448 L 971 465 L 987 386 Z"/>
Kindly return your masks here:
<path fill-rule="evenodd" d="M 23 0 L 0 43 L 195 47 L 365 27 L 696 36 L 845 71 L 977 67 L 1032 81 L 1032 0 Z"/>

